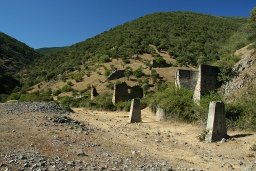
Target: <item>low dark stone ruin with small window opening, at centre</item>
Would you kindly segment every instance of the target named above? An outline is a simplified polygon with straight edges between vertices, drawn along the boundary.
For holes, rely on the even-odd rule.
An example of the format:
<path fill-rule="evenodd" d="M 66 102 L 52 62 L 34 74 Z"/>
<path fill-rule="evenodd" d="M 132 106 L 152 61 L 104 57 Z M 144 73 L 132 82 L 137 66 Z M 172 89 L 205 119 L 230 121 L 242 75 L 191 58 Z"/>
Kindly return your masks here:
<path fill-rule="evenodd" d="M 143 89 L 139 86 L 130 87 L 126 82 L 114 85 L 112 102 L 126 101 L 134 98 L 142 98 L 144 96 Z"/>

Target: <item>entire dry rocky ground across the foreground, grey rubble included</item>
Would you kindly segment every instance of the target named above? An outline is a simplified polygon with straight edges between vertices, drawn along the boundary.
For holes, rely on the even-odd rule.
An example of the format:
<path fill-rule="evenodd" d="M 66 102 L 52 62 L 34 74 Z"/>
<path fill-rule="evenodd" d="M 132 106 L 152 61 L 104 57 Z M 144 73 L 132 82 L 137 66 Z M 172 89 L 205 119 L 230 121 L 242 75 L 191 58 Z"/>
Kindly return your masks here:
<path fill-rule="evenodd" d="M 0 104 L 0 170 L 256 170 L 254 133 L 206 143 L 202 128 L 156 122 L 149 109 L 133 124 L 127 112 L 73 110 Z"/>

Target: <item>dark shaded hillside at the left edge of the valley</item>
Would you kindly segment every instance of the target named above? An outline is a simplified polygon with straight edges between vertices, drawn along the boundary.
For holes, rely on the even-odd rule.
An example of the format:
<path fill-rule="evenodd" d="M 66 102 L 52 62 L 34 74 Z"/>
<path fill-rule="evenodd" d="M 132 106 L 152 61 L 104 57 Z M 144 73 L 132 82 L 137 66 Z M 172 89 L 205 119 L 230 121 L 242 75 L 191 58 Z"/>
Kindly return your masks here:
<path fill-rule="evenodd" d="M 0 94 L 11 94 L 16 86 L 21 87 L 13 75 L 42 56 L 23 42 L 0 32 Z"/>

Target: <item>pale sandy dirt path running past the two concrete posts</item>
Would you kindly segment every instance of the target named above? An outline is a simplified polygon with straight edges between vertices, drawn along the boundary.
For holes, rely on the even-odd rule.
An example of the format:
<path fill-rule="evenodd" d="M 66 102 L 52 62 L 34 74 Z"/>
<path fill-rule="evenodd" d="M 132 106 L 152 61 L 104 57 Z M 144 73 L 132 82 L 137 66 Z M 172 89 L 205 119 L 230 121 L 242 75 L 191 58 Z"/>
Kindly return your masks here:
<path fill-rule="evenodd" d="M 255 156 L 255 152 L 250 151 L 250 147 L 256 143 L 254 133 L 228 132 L 228 135 L 234 138 L 233 141 L 206 143 L 197 139 L 202 131 L 199 127 L 156 122 L 155 116 L 148 108 L 141 111 L 142 123 L 133 124 L 127 123 L 127 112 L 95 112 L 83 109 L 75 111 L 76 114 L 72 115 L 72 118 L 86 120 L 109 132 L 112 138 L 106 141 L 120 144 L 121 151 L 128 149 L 130 152 L 133 149 L 140 151 L 141 156 L 150 155 L 158 160 L 165 159 L 176 167 L 203 170 L 239 170 L 255 165 L 255 159 L 248 157 L 248 154 Z"/>

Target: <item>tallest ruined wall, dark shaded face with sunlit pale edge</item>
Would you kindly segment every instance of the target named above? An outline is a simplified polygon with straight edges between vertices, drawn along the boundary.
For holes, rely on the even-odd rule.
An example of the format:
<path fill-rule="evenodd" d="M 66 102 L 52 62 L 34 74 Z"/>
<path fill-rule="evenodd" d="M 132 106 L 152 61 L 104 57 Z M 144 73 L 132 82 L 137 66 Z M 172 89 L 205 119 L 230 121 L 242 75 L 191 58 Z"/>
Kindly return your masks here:
<path fill-rule="evenodd" d="M 214 66 L 199 66 L 199 74 L 196 89 L 193 99 L 200 100 L 201 96 L 209 94 L 210 91 L 221 87 L 221 82 L 218 81 L 220 70 Z"/>

